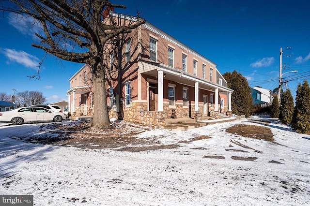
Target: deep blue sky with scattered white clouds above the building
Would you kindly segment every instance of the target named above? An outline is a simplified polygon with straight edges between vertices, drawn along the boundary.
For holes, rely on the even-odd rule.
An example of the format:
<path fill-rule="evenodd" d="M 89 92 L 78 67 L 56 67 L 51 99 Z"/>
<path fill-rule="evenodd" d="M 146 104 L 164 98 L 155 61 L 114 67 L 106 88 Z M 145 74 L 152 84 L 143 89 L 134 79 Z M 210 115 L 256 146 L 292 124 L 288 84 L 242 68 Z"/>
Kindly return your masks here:
<path fill-rule="evenodd" d="M 310 79 L 310 1 L 308 0 L 115 0 L 127 9 L 115 12 L 140 16 L 217 64 L 221 74 L 243 74 L 250 87 L 271 89 L 282 73 L 293 96 L 298 83 Z M 68 79 L 82 64 L 46 57 L 39 80 L 36 66 L 44 52 L 31 47 L 31 22 L 0 18 L 0 92 L 43 92 L 48 103 L 67 100 Z M 290 47 L 290 48 L 287 48 Z"/>

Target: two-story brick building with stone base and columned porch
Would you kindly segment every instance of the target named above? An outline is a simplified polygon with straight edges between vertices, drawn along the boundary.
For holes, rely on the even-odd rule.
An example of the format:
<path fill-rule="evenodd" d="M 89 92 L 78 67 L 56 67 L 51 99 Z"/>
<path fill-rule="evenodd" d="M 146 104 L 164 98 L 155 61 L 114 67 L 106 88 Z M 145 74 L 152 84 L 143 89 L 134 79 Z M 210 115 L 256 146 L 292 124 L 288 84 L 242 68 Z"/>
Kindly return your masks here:
<path fill-rule="evenodd" d="M 124 19 L 127 24 L 136 20 L 109 12 L 104 21 L 116 24 Z M 171 118 L 172 112 L 177 118 L 194 118 L 197 113 L 216 118 L 219 113 L 231 116 L 233 90 L 227 88 L 217 65 L 152 24 L 146 22 L 114 38 L 107 43 L 106 51 L 110 118 L 121 116 L 132 122 L 160 125 Z M 98 100 L 93 95 L 89 65 L 69 82 L 69 111 L 77 116 L 93 115 Z"/>

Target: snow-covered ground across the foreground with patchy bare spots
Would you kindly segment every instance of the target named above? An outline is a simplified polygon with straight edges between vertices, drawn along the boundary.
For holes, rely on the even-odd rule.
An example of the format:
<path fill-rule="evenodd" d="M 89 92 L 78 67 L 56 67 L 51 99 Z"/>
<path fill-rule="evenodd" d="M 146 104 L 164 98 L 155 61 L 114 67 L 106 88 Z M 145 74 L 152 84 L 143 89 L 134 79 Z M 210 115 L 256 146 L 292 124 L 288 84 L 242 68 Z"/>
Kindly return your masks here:
<path fill-rule="evenodd" d="M 240 123 L 270 127 L 275 141 L 225 132 Z M 277 122 L 154 129 L 137 138 L 181 147 L 140 152 L 17 140 L 42 135 L 40 126 L 0 126 L 0 195 L 34 195 L 38 206 L 310 205 L 310 135 Z M 180 143 L 200 135 L 211 138 Z"/>

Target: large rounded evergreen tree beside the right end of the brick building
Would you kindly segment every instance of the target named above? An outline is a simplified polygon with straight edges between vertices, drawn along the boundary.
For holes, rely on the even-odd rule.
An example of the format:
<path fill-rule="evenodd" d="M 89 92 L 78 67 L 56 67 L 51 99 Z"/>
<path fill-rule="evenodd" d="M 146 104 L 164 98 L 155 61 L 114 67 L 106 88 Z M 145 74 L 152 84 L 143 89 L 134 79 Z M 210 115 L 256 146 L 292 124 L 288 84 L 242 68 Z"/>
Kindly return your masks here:
<path fill-rule="evenodd" d="M 233 89 L 233 114 L 249 117 L 250 109 L 253 106 L 253 100 L 251 97 L 251 88 L 248 86 L 247 79 L 236 71 L 233 71 L 233 73 L 225 73 L 223 76 L 227 81 L 228 88 Z"/>

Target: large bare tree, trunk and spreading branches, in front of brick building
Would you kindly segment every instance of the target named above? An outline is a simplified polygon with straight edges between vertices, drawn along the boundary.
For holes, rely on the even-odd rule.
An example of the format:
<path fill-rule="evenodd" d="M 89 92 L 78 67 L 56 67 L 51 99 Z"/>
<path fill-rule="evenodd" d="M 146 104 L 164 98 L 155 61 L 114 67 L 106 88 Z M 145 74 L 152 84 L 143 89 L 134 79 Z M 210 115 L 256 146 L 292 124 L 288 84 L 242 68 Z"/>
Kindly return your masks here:
<path fill-rule="evenodd" d="M 60 59 L 91 66 L 95 98 L 92 126 L 99 127 L 109 125 L 103 63 L 105 44 L 145 23 L 138 16 L 130 24 L 109 24 L 104 21 L 107 8 L 126 7 L 108 0 L 0 0 L 0 10 L 31 17 L 34 24 L 41 24 L 44 36 L 35 33 L 40 43 L 32 46 Z"/>

